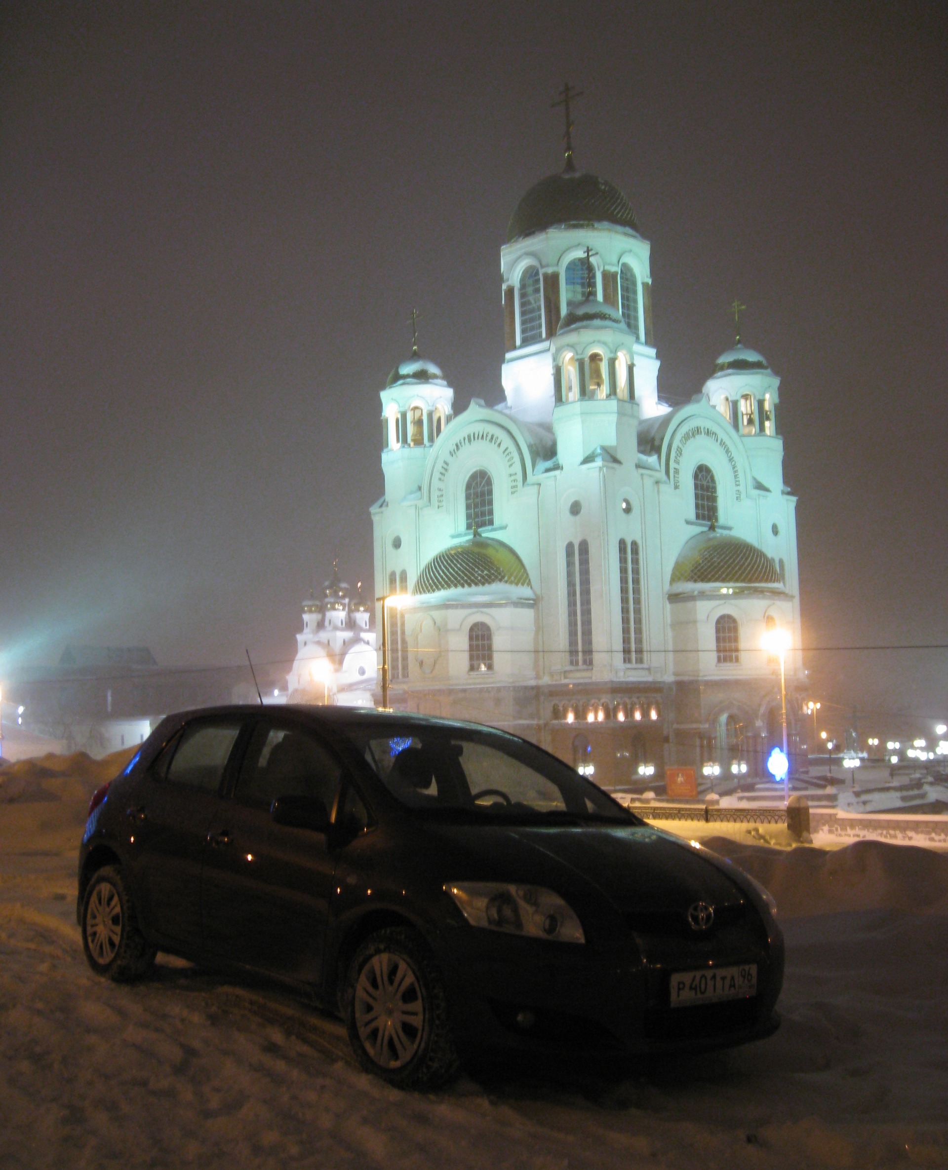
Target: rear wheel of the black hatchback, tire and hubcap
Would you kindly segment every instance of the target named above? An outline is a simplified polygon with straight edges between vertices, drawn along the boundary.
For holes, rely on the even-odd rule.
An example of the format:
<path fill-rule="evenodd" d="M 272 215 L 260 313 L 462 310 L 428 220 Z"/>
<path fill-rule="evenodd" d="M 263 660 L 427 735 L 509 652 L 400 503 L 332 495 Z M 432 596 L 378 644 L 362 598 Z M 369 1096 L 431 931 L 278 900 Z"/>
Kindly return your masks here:
<path fill-rule="evenodd" d="M 96 975 L 128 983 L 147 975 L 156 950 L 138 928 L 135 903 L 118 866 L 92 874 L 82 900 L 82 949 Z"/>

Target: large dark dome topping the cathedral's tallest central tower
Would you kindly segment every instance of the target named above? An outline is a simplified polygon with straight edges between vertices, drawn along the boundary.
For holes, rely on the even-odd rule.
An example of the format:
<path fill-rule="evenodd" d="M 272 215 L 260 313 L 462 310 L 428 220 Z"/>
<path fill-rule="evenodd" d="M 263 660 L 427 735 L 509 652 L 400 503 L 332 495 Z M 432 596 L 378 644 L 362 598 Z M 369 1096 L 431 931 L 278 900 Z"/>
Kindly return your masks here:
<path fill-rule="evenodd" d="M 507 226 L 507 242 L 565 223 L 639 229 L 632 205 L 618 187 L 596 174 L 563 171 L 541 179 L 521 199 Z"/>

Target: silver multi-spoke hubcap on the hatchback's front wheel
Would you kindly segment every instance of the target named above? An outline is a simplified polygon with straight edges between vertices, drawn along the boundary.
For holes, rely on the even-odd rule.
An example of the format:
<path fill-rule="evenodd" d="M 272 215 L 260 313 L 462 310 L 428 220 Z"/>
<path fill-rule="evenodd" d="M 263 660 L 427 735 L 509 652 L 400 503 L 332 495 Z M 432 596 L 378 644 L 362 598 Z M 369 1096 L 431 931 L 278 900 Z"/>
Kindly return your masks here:
<path fill-rule="evenodd" d="M 356 1030 L 382 1068 L 400 1068 L 418 1052 L 425 1023 L 421 989 L 400 955 L 383 951 L 365 964 L 356 984 Z"/>

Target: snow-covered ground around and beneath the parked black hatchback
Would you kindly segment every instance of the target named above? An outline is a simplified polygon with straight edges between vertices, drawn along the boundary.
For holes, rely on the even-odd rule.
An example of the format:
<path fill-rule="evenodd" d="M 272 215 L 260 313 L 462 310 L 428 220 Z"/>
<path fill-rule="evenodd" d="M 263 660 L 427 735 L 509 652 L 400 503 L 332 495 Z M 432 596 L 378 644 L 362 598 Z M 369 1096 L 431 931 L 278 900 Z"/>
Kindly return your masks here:
<path fill-rule="evenodd" d="M 356 1069 L 341 1025 L 272 987 L 164 957 L 147 983 L 96 979 L 74 868 L 115 763 L 44 764 L 0 773 L 0 1166 L 948 1166 L 943 854 L 712 841 L 782 908 L 775 1037 L 403 1094 Z"/>

